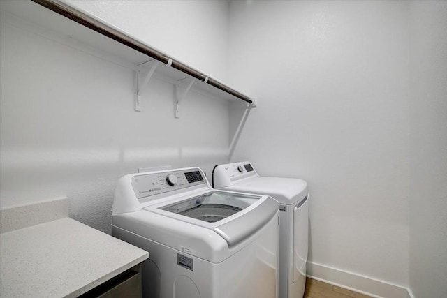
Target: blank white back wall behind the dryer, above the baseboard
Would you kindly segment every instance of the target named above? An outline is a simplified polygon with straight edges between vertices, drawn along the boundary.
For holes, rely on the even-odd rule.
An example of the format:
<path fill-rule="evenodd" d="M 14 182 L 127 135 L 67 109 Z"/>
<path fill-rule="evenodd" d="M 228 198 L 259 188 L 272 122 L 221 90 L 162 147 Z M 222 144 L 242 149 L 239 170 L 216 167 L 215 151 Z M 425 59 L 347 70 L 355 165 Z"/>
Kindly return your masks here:
<path fill-rule="evenodd" d="M 397 285 L 409 279 L 408 10 L 232 1 L 229 21 L 230 84 L 259 98 L 231 160 L 308 181 L 310 262 Z"/>

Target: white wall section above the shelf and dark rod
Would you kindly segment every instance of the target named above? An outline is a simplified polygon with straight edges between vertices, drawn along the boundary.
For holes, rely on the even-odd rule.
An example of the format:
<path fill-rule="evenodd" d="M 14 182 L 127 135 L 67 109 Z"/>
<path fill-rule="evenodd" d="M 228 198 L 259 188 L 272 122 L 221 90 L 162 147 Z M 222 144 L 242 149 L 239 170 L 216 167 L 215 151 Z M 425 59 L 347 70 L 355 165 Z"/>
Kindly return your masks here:
<path fill-rule="evenodd" d="M 132 36 L 226 82 L 228 1 L 74 1 Z"/>

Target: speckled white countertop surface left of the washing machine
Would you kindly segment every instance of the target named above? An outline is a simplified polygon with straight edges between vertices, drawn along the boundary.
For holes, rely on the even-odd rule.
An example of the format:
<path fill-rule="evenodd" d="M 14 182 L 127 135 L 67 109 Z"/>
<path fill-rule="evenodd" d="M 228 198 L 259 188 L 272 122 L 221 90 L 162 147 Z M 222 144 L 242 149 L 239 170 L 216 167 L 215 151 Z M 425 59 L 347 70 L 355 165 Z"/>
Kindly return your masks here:
<path fill-rule="evenodd" d="M 0 297 L 77 297 L 149 257 L 61 218 L 0 234 Z"/>

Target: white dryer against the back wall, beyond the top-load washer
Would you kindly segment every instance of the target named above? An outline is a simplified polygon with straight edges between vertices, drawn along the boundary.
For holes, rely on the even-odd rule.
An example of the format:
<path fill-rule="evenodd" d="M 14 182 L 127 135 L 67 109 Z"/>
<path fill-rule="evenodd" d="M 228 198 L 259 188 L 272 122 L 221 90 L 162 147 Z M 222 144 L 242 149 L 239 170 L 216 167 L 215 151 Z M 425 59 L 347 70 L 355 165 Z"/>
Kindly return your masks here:
<path fill-rule="evenodd" d="M 279 297 L 302 297 L 309 235 L 307 183 L 301 179 L 260 177 L 249 162 L 219 165 L 213 180 L 214 188 L 270 195 L 279 202 Z"/>

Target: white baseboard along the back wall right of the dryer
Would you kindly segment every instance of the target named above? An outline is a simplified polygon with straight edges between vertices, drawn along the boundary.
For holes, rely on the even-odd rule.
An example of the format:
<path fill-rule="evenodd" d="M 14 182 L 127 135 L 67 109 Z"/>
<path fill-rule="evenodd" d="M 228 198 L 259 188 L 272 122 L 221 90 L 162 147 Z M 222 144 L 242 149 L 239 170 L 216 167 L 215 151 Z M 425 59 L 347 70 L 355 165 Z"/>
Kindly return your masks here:
<path fill-rule="evenodd" d="M 411 290 L 400 285 L 312 262 L 307 262 L 307 276 L 375 298 L 414 298 Z"/>

